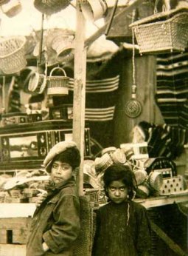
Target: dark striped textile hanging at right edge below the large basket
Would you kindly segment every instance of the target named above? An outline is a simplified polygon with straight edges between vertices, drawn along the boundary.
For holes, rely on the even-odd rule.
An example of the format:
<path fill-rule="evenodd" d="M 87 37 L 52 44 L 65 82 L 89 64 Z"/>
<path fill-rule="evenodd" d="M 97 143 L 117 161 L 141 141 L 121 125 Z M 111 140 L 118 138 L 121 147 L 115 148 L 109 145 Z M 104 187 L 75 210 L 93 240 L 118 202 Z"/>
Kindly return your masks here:
<path fill-rule="evenodd" d="M 164 121 L 188 129 L 188 53 L 157 57 L 156 102 Z"/>

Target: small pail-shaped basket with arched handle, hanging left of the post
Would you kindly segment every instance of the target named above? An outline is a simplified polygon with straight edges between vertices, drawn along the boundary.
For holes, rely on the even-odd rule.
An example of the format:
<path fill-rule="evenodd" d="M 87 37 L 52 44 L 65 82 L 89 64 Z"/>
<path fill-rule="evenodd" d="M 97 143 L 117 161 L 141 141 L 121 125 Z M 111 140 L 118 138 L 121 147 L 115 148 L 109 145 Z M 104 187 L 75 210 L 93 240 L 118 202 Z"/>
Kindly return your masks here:
<path fill-rule="evenodd" d="M 60 70 L 63 75 L 52 75 L 55 70 Z M 48 95 L 68 95 L 69 94 L 69 77 L 66 76 L 65 70 L 61 67 L 54 67 L 47 79 L 47 94 Z"/>

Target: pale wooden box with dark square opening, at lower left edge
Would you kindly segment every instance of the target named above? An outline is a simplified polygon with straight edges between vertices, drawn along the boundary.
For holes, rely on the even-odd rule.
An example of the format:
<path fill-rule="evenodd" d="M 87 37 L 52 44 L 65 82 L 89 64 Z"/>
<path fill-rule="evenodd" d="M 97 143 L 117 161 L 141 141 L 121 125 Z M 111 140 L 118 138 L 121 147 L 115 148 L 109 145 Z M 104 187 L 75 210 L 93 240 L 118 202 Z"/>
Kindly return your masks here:
<path fill-rule="evenodd" d="M 31 218 L 0 218 L 0 243 L 27 243 Z"/>

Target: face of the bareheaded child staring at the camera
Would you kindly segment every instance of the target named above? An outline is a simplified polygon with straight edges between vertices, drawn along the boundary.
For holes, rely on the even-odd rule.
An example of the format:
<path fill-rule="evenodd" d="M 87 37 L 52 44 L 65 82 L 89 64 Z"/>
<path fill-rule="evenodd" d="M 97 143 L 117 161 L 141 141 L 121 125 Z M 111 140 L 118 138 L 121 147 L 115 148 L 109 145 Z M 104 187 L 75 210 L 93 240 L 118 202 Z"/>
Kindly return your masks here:
<path fill-rule="evenodd" d="M 108 196 L 114 203 L 122 203 L 128 198 L 128 188 L 120 181 L 112 181 L 108 186 Z"/>

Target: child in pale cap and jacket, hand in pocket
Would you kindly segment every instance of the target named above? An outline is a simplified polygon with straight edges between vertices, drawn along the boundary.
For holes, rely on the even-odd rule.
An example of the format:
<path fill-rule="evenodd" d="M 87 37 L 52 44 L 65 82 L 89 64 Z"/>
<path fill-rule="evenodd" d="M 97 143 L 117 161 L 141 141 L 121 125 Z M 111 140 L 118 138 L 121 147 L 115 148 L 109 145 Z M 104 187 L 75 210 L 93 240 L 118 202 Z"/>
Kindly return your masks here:
<path fill-rule="evenodd" d="M 72 256 L 80 232 L 80 201 L 73 177 L 80 165 L 80 152 L 73 141 L 62 141 L 50 149 L 43 164 L 51 184 L 37 203 L 27 256 Z"/>

